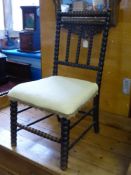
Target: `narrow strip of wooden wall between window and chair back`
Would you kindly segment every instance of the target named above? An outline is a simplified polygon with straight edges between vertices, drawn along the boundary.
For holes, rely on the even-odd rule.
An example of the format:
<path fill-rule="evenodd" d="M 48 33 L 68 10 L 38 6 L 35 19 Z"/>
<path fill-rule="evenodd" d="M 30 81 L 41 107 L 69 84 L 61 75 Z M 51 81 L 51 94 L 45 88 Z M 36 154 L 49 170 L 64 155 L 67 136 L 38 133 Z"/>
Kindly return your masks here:
<path fill-rule="evenodd" d="M 40 9 L 42 75 L 45 77 L 52 74 L 56 20 L 53 0 L 41 0 Z"/>

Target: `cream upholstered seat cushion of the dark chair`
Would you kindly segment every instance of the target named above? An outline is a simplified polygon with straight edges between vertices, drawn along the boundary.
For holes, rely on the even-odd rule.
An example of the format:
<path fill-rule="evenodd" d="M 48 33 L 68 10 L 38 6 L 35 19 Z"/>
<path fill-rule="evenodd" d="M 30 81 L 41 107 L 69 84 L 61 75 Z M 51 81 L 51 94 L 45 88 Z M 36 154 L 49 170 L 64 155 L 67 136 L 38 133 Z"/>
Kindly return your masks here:
<path fill-rule="evenodd" d="M 96 83 L 63 76 L 51 76 L 21 83 L 8 96 L 32 106 L 71 116 L 98 92 Z"/>

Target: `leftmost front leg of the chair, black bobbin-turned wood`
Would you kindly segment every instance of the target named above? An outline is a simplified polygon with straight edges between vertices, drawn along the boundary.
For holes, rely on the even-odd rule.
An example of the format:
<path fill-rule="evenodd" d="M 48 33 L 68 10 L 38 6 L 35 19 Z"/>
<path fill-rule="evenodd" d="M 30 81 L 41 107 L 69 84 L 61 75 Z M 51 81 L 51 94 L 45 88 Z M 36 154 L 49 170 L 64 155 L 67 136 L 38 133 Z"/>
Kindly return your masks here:
<path fill-rule="evenodd" d="M 10 102 L 11 146 L 17 144 L 17 102 Z"/>

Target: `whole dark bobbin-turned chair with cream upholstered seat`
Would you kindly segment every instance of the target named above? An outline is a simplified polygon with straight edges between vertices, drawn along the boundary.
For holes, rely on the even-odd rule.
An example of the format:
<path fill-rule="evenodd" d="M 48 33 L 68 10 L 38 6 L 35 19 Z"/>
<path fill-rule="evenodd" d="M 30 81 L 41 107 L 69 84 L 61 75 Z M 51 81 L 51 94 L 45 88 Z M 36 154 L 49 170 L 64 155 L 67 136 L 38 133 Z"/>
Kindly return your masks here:
<path fill-rule="evenodd" d="M 57 142 L 61 145 L 60 167 L 62 170 L 66 170 L 68 167 L 69 150 L 92 127 L 94 128 L 95 133 L 99 132 L 99 97 L 110 23 L 109 20 L 110 11 L 68 13 L 63 13 L 61 11 L 57 12 L 53 75 L 37 81 L 19 84 L 12 88 L 8 93 L 11 100 L 10 111 L 12 146 L 16 146 L 17 131 L 21 129 L 25 129 L 26 131 Z M 59 58 L 60 35 L 62 34 L 61 29 L 63 30 L 63 27 L 65 27 L 68 31 L 64 60 Z M 75 55 L 76 58 L 74 62 L 70 60 L 69 56 L 69 53 L 71 52 L 70 45 L 72 35 L 78 37 Z M 98 48 L 94 48 L 94 40 L 98 35 L 101 36 L 101 41 L 98 64 L 96 64 L 96 61 L 92 62 L 91 58 L 93 57 L 93 49 L 98 50 Z M 83 64 L 80 63 L 79 56 L 82 49 L 81 41 L 85 38 L 88 39 L 88 48 L 86 48 L 86 61 L 85 64 Z M 93 59 L 96 60 L 96 58 Z M 60 76 L 58 75 L 59 65 L 71 66 L 72 68 L 85 69 L 88 71 L 90 70 L 92 72 L 96 71 L 96 81 L 91 82 L 77 78 Z M 87 104 L 90 99 L 93 99 L 92 108 L 86 111 L 81 110 L 81 108 Z M 30 107 L 18 111 L 17 102 L 30 105 Z M 47 119 L 56 114 L 55 116 L 58 117 L 61 124 L 60 138 L 31 127 L 32 124 L 39 122 L 42 119 L 28 125 L 23 125 L 17 122 L 17 114 L 30 109 L 31 107 L 37 107 L 39 109 L 51 112 L 51 114 L 45 116 L 43 119 Z M 78 117 L 78 120 L 72 123 L 72 117 L 74 117 L 77 113 L 80 114 L 80 117 Z M 70 131 L 87 116 L 91 116 L 92 123 L 80 134 L 80 136 L 78 136 L 75 141 L 71 142 Z"/>

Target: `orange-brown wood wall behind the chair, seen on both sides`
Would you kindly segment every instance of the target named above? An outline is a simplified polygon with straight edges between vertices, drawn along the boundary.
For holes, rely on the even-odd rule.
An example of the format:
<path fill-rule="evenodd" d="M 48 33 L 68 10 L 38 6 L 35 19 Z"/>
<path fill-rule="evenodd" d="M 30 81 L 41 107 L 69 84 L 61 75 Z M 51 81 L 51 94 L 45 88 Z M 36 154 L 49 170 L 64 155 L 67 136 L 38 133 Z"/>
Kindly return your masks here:
<path fill-rule="evenodd" d="M 42 75 L 43 77 L 52 74 L 54 38 L 55 38 L 55 7 L 53 0 L 41 0 L 41 48 L 42 48 Z M 131 78 L 131 1 L 127 7 L 120 9 L 119 22 L 116 27 L 112 27 L 109 33 L 108 48 L 104 66 L 102 88 L 101 88 L 101 110 L 127 117 L 129 112 L 130 96 L 122 92 L 124 78 Z M 61 47 L 64 50 L 64 36 L 66 31 L 63 29 Z M 74 35 L 72 42 L 75 41 Z M 99 35 L 96 36 L 96 41 Z M 98 44 L 96 44 L 96 54 Z M 74 54 L 72 48 L 72 55 Z M 62 53 L 60 53 L 62 55 Z M 84 56 L 84 48 L 81 53 L 81 61 Z M 95 56 L 95 55 L 94 55 Z M 72 71 L 62 67 L 60 73 L 72 75 L 86 79 L 93 78 L 94 75 L 84 73 L 83 70 Z"/>

